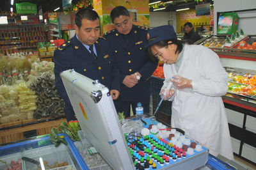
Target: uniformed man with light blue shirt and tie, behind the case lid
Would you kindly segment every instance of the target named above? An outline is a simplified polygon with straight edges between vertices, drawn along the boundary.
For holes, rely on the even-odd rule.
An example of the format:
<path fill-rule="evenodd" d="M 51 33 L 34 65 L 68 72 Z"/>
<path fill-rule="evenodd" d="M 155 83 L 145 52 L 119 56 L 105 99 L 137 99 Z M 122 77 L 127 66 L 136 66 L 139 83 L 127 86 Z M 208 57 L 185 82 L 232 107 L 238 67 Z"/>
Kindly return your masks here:
<path fill-rule="evenodd" d="M 113 62 L 109 43 L 99 38 L 99 15 L 93 10 L 83 9 L 77 12 L 75 20 L 76 35 L 54 51 L 55 86 L 65 101 L 67 121 L 76 120 L 76 116 L 61 81 L 60 72 L 74 69 L 90 79 L 99 80 L 109 88 L 113 100 L 120 93 L 120 75 Z"/>

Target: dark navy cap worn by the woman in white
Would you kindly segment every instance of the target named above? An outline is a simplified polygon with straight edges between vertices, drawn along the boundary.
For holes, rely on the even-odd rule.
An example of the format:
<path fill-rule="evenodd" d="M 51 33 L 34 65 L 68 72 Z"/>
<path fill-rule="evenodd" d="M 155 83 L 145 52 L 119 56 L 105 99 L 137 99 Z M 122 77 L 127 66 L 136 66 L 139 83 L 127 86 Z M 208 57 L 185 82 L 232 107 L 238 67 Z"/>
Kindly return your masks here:
<path fill-rule="evenodd" d="M 177 39 L 177 35 L 173 26 L 159 26 L 148 30 L 147 39 L 148 44 L 145 46 L 145 48 L 163 40 Z"/>

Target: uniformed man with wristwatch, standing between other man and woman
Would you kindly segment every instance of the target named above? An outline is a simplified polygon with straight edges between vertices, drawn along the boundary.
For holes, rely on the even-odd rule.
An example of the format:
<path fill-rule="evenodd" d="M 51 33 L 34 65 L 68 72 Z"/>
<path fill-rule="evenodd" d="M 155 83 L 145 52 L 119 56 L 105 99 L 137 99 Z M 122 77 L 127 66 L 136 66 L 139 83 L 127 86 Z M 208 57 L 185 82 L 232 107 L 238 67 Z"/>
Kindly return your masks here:
<path fill-rule="evenodd" d="M 147 27 L 134 26 L 124 6 L 116 6 L 110 13 L 116 29 L 104 34 L 111 44 L 114 59 L 120 71 L 120 100 L 114 102 L 117 112 L 130 116 L 131 105 L 135 114 L 138 102 L 149 112 L 152 92 L 150 76 L 156 70 L 158 61 L 148 58 L 144 47 L 147 45 Z"/>

